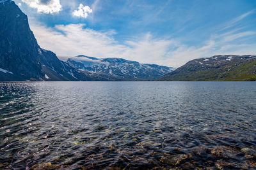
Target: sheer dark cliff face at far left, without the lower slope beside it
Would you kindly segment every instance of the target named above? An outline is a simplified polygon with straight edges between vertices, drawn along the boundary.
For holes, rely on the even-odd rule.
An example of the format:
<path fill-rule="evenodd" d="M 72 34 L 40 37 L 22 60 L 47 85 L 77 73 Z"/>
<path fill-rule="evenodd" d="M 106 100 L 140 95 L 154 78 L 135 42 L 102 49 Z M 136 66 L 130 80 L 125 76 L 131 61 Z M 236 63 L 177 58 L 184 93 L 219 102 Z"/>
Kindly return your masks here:
<path fill-rule="evenodd" d="M 0 16 L 0 68 L 9 71 L 1 80 L 39 80 L 44 76 L 40 47 L 29 29 L 28 17 L 13 1 L 0 3 Z"/>

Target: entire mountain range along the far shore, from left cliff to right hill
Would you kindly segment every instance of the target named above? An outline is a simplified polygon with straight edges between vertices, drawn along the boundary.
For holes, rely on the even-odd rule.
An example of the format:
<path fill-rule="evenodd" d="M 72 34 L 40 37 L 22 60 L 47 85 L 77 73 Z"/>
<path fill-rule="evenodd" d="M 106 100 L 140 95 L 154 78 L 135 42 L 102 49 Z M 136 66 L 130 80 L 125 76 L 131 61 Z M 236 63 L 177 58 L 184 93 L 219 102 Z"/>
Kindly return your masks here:
<path fill-rule="evenodd" d="M 216 55 L 178 69 L 86 55 L 60 59 L 38 45 L 19 6 L 0 0 L 0 81 L 256 80 L 256 55 Z"/>

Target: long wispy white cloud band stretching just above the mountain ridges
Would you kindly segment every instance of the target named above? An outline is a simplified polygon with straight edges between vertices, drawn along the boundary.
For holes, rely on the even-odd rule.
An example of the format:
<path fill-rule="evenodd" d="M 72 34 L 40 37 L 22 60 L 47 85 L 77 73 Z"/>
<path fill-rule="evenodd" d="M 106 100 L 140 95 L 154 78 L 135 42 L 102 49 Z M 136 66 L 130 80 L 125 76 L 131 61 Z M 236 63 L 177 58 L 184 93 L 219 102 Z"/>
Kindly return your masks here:
<path fill-rule="evenodd" d="M 83 24 L 56 25 L 54 28 L 36 24 L 31 25 L 31 29 L 39 45 L 58 56 L 122 57 L 142 63 L 179 67 L 199 57 L 256 53 L 255 44 L 238 41 L 250 38 L 256 32 L 225 32 L 212 35 L 201 46 L 188 46 L 179 39 L 154 38 L 150 32 L 121 44 L 114 38 L 115 31 L 95 31 L 84 28 Z"/>

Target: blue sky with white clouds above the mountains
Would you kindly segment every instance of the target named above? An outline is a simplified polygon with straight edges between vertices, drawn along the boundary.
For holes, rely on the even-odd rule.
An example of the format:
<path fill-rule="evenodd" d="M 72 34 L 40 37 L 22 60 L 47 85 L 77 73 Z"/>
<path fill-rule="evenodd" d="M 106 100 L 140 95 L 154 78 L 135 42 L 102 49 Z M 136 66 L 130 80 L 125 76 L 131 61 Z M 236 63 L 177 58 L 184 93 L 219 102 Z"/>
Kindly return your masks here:
<path fill-rule="evenodd" d="M 256 0 L 14 0 L 58 57 L 118 57 L 179 67 L 256 54 Z"/>

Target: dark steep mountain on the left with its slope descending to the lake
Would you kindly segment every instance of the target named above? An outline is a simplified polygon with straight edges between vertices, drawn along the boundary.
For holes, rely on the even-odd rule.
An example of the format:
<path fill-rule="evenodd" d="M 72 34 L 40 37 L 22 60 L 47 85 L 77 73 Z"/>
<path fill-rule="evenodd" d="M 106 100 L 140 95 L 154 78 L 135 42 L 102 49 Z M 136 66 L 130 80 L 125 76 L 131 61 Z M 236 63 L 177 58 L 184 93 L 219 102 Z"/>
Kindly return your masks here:
<path fill-rule="evenodd" d="M 40 48 L 28 17 L 10 0 L 0 1 L 0 81 L 92 80 Z"/>

